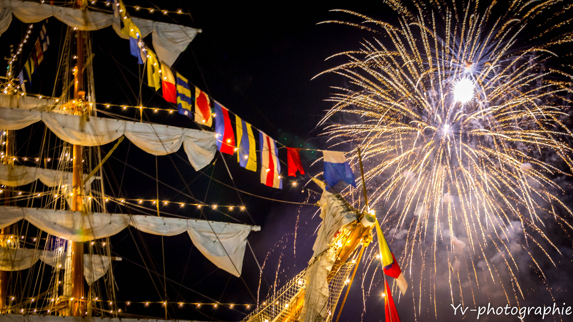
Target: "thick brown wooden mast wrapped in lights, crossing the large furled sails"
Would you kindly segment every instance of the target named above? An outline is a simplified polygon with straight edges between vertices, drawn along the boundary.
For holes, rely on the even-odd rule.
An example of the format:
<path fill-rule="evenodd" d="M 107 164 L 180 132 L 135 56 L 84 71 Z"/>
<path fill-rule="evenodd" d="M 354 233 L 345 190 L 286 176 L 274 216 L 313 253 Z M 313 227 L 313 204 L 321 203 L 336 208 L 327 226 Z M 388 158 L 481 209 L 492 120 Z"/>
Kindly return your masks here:
<path fill-rule="evenodd" d="M 76 0 L 76 7 L 82 9 L 81 0 Z M 76 105 L 74 107 L 74 114 L 81 115 L 80 101 L 84 100 L 84 38 L 83 33 L 76 30 L 76 66 L 74 68 L 74 100 Z M 73 161 L 72 161 L 72 193 L 71 199 L 72 211 L 81 211 L 83 207 L 83 191 L 81 186 L 81 175 L 84 172 L 83 167 L 83 147 L 73 145 Z M 84 315 L 84 243 L 72 242 L 72 293 L 70 294 L 69 315 L 83 316 Z"/>

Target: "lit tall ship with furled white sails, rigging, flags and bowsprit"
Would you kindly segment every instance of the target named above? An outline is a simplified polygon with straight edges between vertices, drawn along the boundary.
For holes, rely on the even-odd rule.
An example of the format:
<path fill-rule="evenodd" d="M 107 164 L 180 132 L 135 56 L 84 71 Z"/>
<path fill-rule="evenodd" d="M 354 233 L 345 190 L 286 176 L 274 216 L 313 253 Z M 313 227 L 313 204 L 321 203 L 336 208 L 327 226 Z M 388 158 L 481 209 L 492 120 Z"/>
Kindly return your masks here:
<path fill-rule="evenodd" d="M 160 284 L 149 285 L 161 298 L 159 304 L 164 314 L 160 319 L 178 320 L 170 310 L 174 304 L 184 303 L 168 299 L 167 284 L 177 282 L 168 280 L 164 273 L 164 242 L 187 233 L 202 256 L 231 277 L 242 279 L 243 258 L 250 248 L 247 237 L 261 227 L 232 215 L 231 211 L 248 214 L 242 203 L 212 205 L 196 198 L 191 190 L 177 192 L 186 197 L 186 202 L 160 198 L 159 184 L 169 186 L 169 183 L 159 179 L 157 156 L 179 157 L 187 170 L 203 172 L 202 169 L 217 162 L 217 151 L 226 150 L 227 154 L 237 155 L 242 167 L 256 171 L 259 152 L 261 183 L 282 188 L 280 160 L 278 152 L 274 152 L 277 145 L 262 131 L 259 136 L 253 135 L 249 123 L 238 116 L 229 117 L 225 107 L 197 87 L 193 95 L 186 78 L 172 70 L 179 54 L 201 29 L 131 17 L 124 3 L 117 0 L 104 2 L 105 9 L 97 9 L 92 6 L 94 3 L 76 0 L 58 6 L 43 0 L 0 0 L 0 34 L 10 27 L 13 17 L 25 23 L 25 36 L 21 44 L 11 45 L 10 56 L 6 57 L 9 67 L 1 80 L 0 313 L 14 321 L 15 316 L 21 315 L 30 317 L 30 321 L 36 316 L 42 316 L 42 321 L 56 321 L 62 316 L 78 321 L 79 317 L 157 320 L 157 316 L 129 313 L 130 302 L 117 296 L 114 267 L 124 258 L 113 252 L 110 237 L 128 230 L 131 237 L 141 232 L 159 236 L 156 240 L 160 240 L 163 254 L 163 269 L 159 271 L 163 274 L 147 265 L 144 268 Z M 56 81 L 51 95 L 34 94 L 32 84 L 37 80 L 33 74 L 50 46 L 52 29 L 46 25 L 54 19 L 64 27 L 58 45 Z M 155 91 L 161 88 L 163 99 L 171 103 L 170 108 L 144 106 L 141 90 L 137 104 L 129 107 L 119 105 L 109 109 L 112 104 L 96 99 L 93 66 L 98 58 L 92 52 L 92 33 L 110 26 L 117 36 L 129 40 L 131 55 L 137 58 L 140 70 L 146 70 L 138 75 L 140 84 L 147 84 Z M 40 32 L 36 32 L 38 29 Z M 152 47 L 143 39 L 150 34 Z M 36 38 L 34 46 L 26 45 Z M 121 42 L 127 48 L 124 40 Z M 113 113 L 113 108 L 120 111 L 129 108 L 135 111 L 135 116 Z M 188 117 L 195 127 L 159 124 L 149 117 L 158 110 Z M 232 131 L 229 136 L 229 125 L 222 119 L 236 123 L 237 139 Z M 260 148 L 254 147 L 255 138 Z M 104 171 L 124 139 L 130 146 L 146 152 L 144 158 L 150 163 L 155 161 L 153 175 L 132 167 L 155 180 L 156 187 L 151 189 L 155 195 L 146 199 L 122 197 L 127 163 L 119 180 L 115 169 Z M 245 148 L 245 144 L 250 147 Z M 176 153 L 182 146 L 185 158 Z M 290 153 L 291 150 L 289 162 Z M 225 159 L 221 159 L 228 171 Z M 175 169 L 185 182 L 179 168 Z M 119 192 L 110 191 L 112 180 L 119 181 Z M 330 322 L 342 310 L 348 292 L 339 304 L 341 294 L 345 287 L 350 288 L 378 223 L 367 202 L 364 209 L 355 209 L 340 194 L 328 191 L 333 184 L 327 187 L 324 182 L 313 180 L 321 190 L 316 206 L 320 207 L 322 223 L 308 268 L 266 299 L 255 298 L 242 280 L 248 290 L 245 297 L 256 301 L 252 309 L 247 306 L 250 311 L 243 313 L 246 316 L 242 321 Z M 142 190 L 150 191 L 149 188 Z M 364 198 L 367 201 L 366 189 Z M 162 209 L 168 203 L 180 209 L 193 207 L 199 217 L 168 213 Z M 207 217 L 206 209 L 216 218 L 227 220 L 212 220 L 213 217 Z M 145 252 L 137 245 L 136 249 L 140 254 Z M 257 265 L 262 274 L 258 261 Z M 235 309 L 234 304 L 200 295 L 214 307 L 225 305 Z M 147 307 L 150 303 L 142 304 Z"/>

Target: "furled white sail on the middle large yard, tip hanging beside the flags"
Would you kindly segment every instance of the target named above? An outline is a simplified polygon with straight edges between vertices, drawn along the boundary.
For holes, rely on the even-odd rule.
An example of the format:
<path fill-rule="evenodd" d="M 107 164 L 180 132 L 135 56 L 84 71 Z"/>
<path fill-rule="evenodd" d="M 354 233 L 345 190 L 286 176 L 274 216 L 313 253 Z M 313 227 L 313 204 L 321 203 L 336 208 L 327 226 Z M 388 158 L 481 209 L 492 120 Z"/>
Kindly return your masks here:
<path fill-rule="evenodd" d="M 217 149 L 215 133 L 209 131 L 103 117 L 90 117 L 85 121 L 79 115 L 0 107 L 2 129 L 21 129 L 38 121 L 44 121 L 58 138 L 81 146 L 100 146 L 125 135 L 143 151 L 166 155 L 178 151 L 183 144 L 195 170 L 209 164 Z"/>

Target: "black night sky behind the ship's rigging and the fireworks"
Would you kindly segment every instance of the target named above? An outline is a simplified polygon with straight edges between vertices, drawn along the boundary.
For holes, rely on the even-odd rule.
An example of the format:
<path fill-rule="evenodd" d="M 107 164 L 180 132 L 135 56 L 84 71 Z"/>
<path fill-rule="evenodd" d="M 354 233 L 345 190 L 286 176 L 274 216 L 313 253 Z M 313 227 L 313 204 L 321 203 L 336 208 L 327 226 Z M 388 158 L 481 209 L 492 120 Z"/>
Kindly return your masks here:
<path fill-rule="evenodd" d="M 330 19 L 347 19 L 342 13 L 329 12 L 330 9 L 348 9 L 370 15 L 378 19 L 394 17 L 385 5 L 369 3 L 345 2 L 322 6 L 309 6 L 308 3 L 281 3 L 268 5 L 259 3 L 222 3 L 203 1 L 197 3 L 162 2 L 154 1 L 132 2 L 127 5 L 141 5 L 143 7 L 156 6 L 157 9 L 176 10 L 182 8 L 189 10 L 188 15 L 163 15 L 159 12 L 149 14 L 145 10 L 135 11 L 128 9 L 134 17 L 156 19 L 163 22 L 180 23 L 186 26 L 203 29 L 203 32 L 191 42 L 189 48 L 183 52 L 174 64 L 174 69 L 189 81 L 210 96 L 225 105 L 231 111 L 252 123 L 255 127 L 268 133 L 272 138 L 286 146 L 328 148 L 332 142 L 327 143 L 324 137 L 319 136 L 321 128 L 316 124 L 324 115 L 324 111 L 332 103 L 324 101 L 329 93 L 333 92 L 329 86 L 344 86 L 346 80 L 335 75 L 324 75 L 314 80 L 313 76 L 325 69 L 332 68 L 344 62 L 341 58 L 325 61 L 325 58 L 344 50 L 356 49 L 363 38 L 371 38 L 372 34 L 361 32 L 348 26 L 335 24 L 320 24 L 318 22 Z M 105 9 L 103 3 L 96 6 Z M 3 56 L 7 54 L 8 44 L 18 44 L 23 25 L 13 19 L 10 29 L 0 38 L 0 50 Z M 34 24 L 36 39 L 41 23 Z M 50 49 L 45 52 L 45 62 L 40 70 L 34 74 L 34 84 L 30 92 L 50 95 L 52 93 L 55 66 L 58 56 L 58 42 L 62 23 L 55 18 L 49 18 L 49 35 L 52 38 Z M 96 100 L 99 103 L 112 104 L 138 104 L 139 80 L 136 58 L 129 56 L 128 41 L 119 38 L 111 27 L 92 33 Z M 151 36 L 145 39 L 151 46 Z M 23 53 L 27 56 L 31 46 L 26 46 Z M 343 59 L 343 58 L 342 58 Z M 40 81 L 36 81 L 40 80 Z M 145 78 L 147 80 L 147 78 Z M 61 87 L 61 84 L 60 84 Z M 61 89 L 57 89 L 59 93 Z M 147 85 L 142 86 L 143 105 L 148 107 L 171 108 L 163 101 L 160 93 L 155 93 Z M 121 111 L 120 108 L 111 108 L 110 111 L 128 117 L 138 117 L 133 109 Z M 182 127 L 197 128 L 193 121 L 182 115 L 167 112 L 152 113 L 146 111 L 146 120 Z M 33 131 L 39 133 L 43 130 L 42 124 L 34 124 Z M 27 132 L 19 131 L 18 140 L 29 136 Z M 38 135 L 39 137 L 39 135 Z M 103 146 L 107 152 L 114 143 Z M 346 149 L 346 150 L 345 150 Z M 350 150 L 350 147 L 340 146 L 336 150 Z M 23 152 L 23 151 L 21 151 Z M 321 171 L 322 163 L 311 163 L 319 156 L 315 151 L 302 151 L 303 164 L 311 175 Z M 229 173 L 223 163 L 226 160 Z M 280 151 L 280 158 L 286 160 L 285 151 Z M 211 164 L 197 172 L 187 164 L 187 157 L 183 149 L 177 154 L 155 156 L 147 154 L 135 147 L 128 140 L 124 140 L 120 148 L 113 153 L 104 166 L 107 175 L 106 193 L 118 198 L 156 197 L 156 182 L 148 176 L 134 170 L 135 167 L 151 177 L 155 177 L 155 159 L 159 172 L 159 180 L 174 187 L 170 189 L 159 184 L 159 199 L 175 202 L 193 202 L 192 199 L 178 193 L 194 195 L 205 200 L 208 204 L 241 205 L 248 211 L 227 211 L 236 218 L 233 221 L 214 211 L 205 210 L 206 218 L 216 221 L 242 222 L 261 226 L 261 231 L 249 235 L 249 241 L 261 265 L 264 265 L 264 276 L 260 282 L 260 272 L 253 255 L 247 248 L 244 258 L 242 277 L 250 292 L 262 303 L 268 294 L 269 286 L 277 285 L 280 288 L 285 281 L 304 269 L 312 255 L 312 243 L 315 231 L 320 223 L 316 206 L 297 206 L 288 203 L 272 202 L 248 194 L 237 194 L 233 189 L 223 186 L 213 180 L 220 180 L 230 186 L 236 184 L 238 189 L 267 198 L 295 202 L 316 202 L 319 195 L 309 192 L 301 184 L 306 180 L 297 178 L 296 187 L 292 186 L 295 179 L 284 180 L 282 191 L 272 189 L 259 182 L 259 173 L 245 170 L 238 166 L 236 156 L 217 155 L 215 164 Z M 125 163 L 129 164 L 126 166 Z M 282 165 L 284 169 L 284 165 Z M 178 172 L 179 171 L 179 172 Z M 284 171 L 283 171 L 284 172 Z M 308 179 L 308 176 L 305 176 Z M 234 183 L 233 183 L 234 181 Z M 186 186 L 189 184 L 189 189 Z M 308 186 L 314 191 L 319 188 L 310 183 Z M 148 202 L 151 208 L 151 203 Z M 197 209 L 186 207 L 179 209 L 178 205 L 162 206 L 162 210 L 176 215 L 190 218 L 201 217 Z M 133 213 L 138 212 L 123 206 L 108 205 L 109 212 Z M 152 212 L 152 211 L 151 211 Z M 248 212 L 248 213 L 247 213 Z M 561 238 L 561 239 L 559 239 Z M 559 301 L 568 296 L 569 278 L 563 277 L 564 272 L 571 268 L 571 242 L 559 237 L 561 245 L 567 245 L 563 250 L 563 257 L 556 261 L 558 268 L 547 265 L 546 274 L 552 286 L 559 288 L 552 296 Z M 163 238 L 164 262 L 162 252 L 162 238 L 156 235 L 142 233 L 135 229 L 125 229 L 112 237 L 113 256 L 123 257 L 124 260 L 114 262 L 117 301 L 162 301 L 165 299 L 163 287 L 163 273 L 167 280 L 167 299 L 174 303 L 168 308 L 168 316 L 176 319 L 197 319 L 202 321 L 223 320 L 238 321 L 252 311 L 256 301 L 240 278 L 207 261 L 201 253 L 192 246 L 189 236 L 185 234 Z M 401 254 L 403 245 L 393 246 L 394 254 Z M 543 264 L 545 265 L 545 264 Z M 150 272 L 143 268 L 147 266 Z M 165 270 L 163 270 L 165 266 Z M 524 278 L 531 280 L 531 290 L 526 294 L 527 299 L 535 301 L 537 291 L 540 296 L 550 303 L 551 296 L 544 290 L 547 285 L 533 271 L 523 272 Z M 407 276 L 407 275 L 406 275 Z M 372 291 L 366 299 L 364 312 L 361 284 L 368 289 L 370 279 L 363 281 L 362 268 L 356 274 L 349 300 L 347 301 L 340 321 L 380 321 L 384 319 L 384 305 L 380 292 L 382 284 L 380 275 L 372 286 Z M 266 281 L 265 281 L 266 279 Z M 197 293 L 195 293 L 195 292 Z M 367 290 L 366 290 L 367 292 Z M 209 296 L 222 303 L 250 304 L 251 309 L 238 307 L 236 311 L 226 307 L 214 309 L 203 305 L 201 308 L 186 305 L 179 308 L 176 302 L 203 302 L 211 301 L 199 293 Z M 434 315 L 429 308 L 421 320 L 458 320 L 459 316 L 452 315 L 451 299 L 448 293 L 441 294 L 437 300 L 437 311 Z M 443 296 L 443 297 L 441 297 Z M 398 301 L 395 295 L 398 312 L 402 321 L 413 321 L 413 301 L 411 295 Z M 480 303 L 487 303 L 483 299 Z M 163 317 L 164 310 L 160 304 L 151 304 L 144 308 L 142 304 L 132 304 L 124 307 L 122 311 L 135 315 Z M 495 320 L 490 320 L 495 321 Z"/>

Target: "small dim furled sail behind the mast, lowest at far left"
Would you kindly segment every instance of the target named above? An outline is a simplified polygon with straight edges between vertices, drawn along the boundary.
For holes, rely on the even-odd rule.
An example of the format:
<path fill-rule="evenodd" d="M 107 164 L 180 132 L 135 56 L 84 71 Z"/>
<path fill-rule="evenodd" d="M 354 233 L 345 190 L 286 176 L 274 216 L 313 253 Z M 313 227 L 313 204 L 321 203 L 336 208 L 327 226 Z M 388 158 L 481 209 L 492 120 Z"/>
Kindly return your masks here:
<path fill-rule="evenodd" d="M 0 247 L 0 270 L 28 269 L 38 260 L 53 267 L 64 266 L 66 253 L 56 250 Z M 109 269 L 109 264 L 110 258 L 108 256 L 84 254 L 84 277 L 88 284 L 92 284 L 104 276 Z"/>

